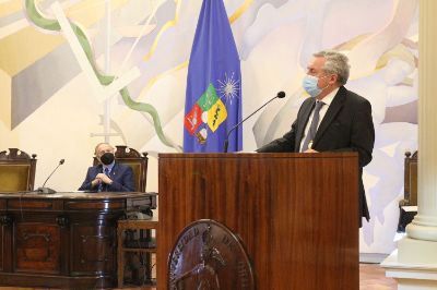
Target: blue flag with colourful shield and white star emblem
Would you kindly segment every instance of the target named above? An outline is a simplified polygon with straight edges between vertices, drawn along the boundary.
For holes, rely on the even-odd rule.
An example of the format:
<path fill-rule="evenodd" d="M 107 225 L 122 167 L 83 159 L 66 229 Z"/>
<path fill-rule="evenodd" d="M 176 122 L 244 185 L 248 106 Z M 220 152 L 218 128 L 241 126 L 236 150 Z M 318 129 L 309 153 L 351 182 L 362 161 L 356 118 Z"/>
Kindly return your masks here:
<path fill-rule="evenodd" d="M 223 152 L 227 132 L 241 121 L 241 72 L 223 0 L 203 0 L 187 77 L 184 152 Z M 243 147 L 241 126 L 228 152 Z"/>

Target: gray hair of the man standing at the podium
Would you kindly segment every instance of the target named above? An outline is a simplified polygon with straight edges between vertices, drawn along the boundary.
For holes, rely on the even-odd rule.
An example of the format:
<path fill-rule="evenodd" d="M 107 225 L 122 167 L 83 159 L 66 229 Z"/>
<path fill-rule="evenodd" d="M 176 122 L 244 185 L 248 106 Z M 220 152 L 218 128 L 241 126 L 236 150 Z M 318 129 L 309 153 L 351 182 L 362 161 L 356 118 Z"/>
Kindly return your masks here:
<path fill-rule="evenodd" d="M 334 50 L 322 50 L 312 56 L 326 59 L 323 71 L 336 74 L 339 76 L 338 83 L 340 85 L 345 85 L 347 83 L 349 69 L 351 65 L 349 65 L 349 59 L 346 56 Z"/>

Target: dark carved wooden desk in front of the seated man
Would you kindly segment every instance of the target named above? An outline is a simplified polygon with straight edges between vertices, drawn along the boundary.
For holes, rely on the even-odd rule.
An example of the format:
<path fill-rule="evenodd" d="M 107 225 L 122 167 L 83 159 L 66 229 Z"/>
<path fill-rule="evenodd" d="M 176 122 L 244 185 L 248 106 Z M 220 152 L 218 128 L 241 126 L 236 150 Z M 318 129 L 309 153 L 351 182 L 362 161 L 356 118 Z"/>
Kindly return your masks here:
<path fill-rule="evenodd" d="M 117 220 L 146 207 L 155 194 L 0 194 L 0 285 L 115 287 Z"/>

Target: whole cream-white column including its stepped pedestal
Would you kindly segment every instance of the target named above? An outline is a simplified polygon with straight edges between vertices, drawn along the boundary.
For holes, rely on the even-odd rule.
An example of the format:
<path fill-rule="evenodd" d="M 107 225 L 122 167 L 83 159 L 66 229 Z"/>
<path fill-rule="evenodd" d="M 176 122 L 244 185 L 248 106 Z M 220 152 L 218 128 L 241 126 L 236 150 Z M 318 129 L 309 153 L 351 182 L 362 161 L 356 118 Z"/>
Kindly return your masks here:
<path fill-rule="evenodd" d="M 436 11 L 436 0 L 420 1 L 417 215 L 398 250 L 382 263 L 400 290 L 437 289 Z"/>

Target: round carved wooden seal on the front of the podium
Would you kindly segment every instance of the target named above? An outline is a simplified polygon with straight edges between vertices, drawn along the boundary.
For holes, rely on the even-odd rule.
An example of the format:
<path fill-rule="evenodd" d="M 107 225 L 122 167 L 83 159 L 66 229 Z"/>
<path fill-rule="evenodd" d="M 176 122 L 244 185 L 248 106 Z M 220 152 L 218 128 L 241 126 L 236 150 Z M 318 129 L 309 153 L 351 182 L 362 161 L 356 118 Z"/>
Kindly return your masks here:
<path fill-rule="evenodd" d="M 201 219 L 179 234 L 168 261 L 168 286 L 181 289 L 255 289 L 243 242 L 224 225 Z"/>

